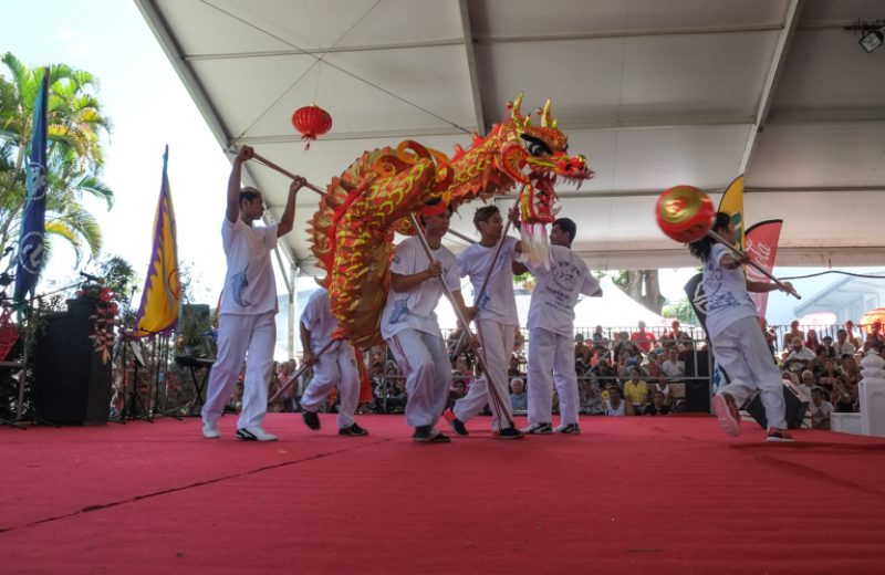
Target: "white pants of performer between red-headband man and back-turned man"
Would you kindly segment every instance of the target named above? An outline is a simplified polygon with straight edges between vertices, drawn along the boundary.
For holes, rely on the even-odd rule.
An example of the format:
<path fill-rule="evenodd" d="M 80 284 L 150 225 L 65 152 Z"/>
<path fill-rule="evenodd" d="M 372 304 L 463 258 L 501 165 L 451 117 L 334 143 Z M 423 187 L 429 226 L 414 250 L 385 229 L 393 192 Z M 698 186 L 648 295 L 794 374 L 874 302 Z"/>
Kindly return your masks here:
<path fill-rule="evenodd" d="M 470 385 L 467 395 L 455 402 L 452 411 L 455 417 L 467 421 L 479 414 L 486 404 L 491 408 L 492 429 L 510 427 L 513 411 L 510 407 L 510 389 L 508 388 L 507 370 L 510 367 L 510 356 L 513 353 L 513 337 L 516 325 L 506 325 L 493 320 L 477 320 L 477 332 L 482 346 L 482 360 L 486 363 L 488 375 L 477 379 Z M 491 385 L 498 394 L 498 399 L 489 389 L 489 375 Z"/>

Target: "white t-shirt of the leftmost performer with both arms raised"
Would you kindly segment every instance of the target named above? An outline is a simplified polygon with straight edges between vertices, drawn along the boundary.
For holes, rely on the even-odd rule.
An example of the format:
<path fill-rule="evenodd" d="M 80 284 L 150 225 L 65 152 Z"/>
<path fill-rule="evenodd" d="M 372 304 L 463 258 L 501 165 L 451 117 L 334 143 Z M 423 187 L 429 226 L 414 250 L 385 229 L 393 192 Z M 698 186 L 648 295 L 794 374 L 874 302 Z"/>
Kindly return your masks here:
<path fill-rule="evenodd" d="M 270 252 L 277 245 L 277 224 L 247 226 L 242 219 L 221 226 L 221 245 L 228 262 L 220 314 L 277 313 L 277 281 Z"/>

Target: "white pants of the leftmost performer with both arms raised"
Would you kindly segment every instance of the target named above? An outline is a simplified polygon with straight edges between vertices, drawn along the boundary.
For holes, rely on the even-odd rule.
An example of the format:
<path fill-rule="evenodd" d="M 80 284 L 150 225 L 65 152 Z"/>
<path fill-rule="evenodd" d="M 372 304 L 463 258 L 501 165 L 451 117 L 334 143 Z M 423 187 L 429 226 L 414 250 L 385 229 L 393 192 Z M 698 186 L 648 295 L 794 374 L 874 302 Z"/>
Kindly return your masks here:
<path fill-rule="evenodd" d="M 273 347 L 277 344 L 274 315 L 273 312 L 261 315 L 222 314 L 218 318 L 218 359 L 212 365 L 206 404 L 200 411 L 204 421 L 214 424 L 225 412 L 243 359 L 247 363 L 242 410 L 237 428 L 260 426 L 264 420 Z"/>

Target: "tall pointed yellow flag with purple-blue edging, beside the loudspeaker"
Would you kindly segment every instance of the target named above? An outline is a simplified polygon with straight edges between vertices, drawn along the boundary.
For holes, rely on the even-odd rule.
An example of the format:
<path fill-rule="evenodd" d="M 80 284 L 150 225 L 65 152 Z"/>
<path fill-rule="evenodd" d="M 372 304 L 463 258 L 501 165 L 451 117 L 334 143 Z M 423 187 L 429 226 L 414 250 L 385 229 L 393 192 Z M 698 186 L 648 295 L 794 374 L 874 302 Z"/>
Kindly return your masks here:
<path fill-rule="evenodd" d="M 154 248 L 147 268 L 142 304 L 135 318 L 135 336 L 146 337 L 167 333 L 178 325 L 180 307 L 178 283 L 178 248 L 176 245 L 175 211 L 166 167 L 169 146 L 163 154 L 163 182 L 159 203 L 154 217 Z"/>

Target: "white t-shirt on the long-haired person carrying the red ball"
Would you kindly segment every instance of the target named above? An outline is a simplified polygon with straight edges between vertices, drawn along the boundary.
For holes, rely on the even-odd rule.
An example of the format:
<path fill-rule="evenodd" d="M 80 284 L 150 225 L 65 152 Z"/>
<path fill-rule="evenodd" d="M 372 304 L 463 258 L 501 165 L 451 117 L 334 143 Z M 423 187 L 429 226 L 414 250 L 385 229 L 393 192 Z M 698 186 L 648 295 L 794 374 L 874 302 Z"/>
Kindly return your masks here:
<path fill-rule="evenodd" d="M 707 332 L 717 335 L 743 317 L 758 317 L 756 305 L 747 293 L 743 269 L 728 270 L 720 264 L 728 248 L 715 243 L 710 259 L 704 264 L 704 291 L 707 293 Z"/>

